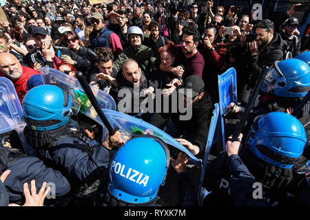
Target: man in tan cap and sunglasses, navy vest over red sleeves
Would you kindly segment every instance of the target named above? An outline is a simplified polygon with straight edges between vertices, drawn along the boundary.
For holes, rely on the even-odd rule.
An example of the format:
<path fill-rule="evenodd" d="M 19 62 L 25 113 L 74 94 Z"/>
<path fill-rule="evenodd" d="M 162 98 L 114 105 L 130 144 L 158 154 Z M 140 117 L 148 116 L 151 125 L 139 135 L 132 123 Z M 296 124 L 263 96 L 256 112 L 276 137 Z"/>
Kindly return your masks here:
<path fill-rule="evenodd" d="M 123 51 L 123 46 L 117 34 L 106 27 L 103 16 L 99 12 L 93 12 L 90 18 L 93 31 L 90 33 L 90 47 L 95 50 L 96 47 L 108 47 L 114 52 L 114 57 Z"/>

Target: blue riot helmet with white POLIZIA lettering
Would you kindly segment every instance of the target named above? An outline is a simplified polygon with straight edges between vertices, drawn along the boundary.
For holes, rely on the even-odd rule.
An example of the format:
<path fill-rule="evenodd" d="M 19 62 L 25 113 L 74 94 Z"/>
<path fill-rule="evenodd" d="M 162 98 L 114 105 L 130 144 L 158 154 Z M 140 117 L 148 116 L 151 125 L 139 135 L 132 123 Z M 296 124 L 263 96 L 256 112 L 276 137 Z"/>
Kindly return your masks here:
<path fill-rule="evenodd" d="M 156 198 L 165 184 L 169 149 L 153 135 L 138 135 L 118 149 L 109 167 L 107 190 L 125 203 L 139 205 Z"/>

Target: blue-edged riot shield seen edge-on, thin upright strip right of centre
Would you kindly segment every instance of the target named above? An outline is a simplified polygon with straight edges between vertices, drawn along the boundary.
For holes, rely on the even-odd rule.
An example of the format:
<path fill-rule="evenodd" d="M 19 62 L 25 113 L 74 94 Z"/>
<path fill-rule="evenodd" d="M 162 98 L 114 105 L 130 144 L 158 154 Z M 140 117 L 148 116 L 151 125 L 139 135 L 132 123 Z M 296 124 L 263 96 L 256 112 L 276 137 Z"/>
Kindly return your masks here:
<path fill-rule="evenodd" d="M 205 146 L 205 155 L 203 157 L 203 166 L 201 167 L 201 171 L 200 171 L 200 181 L 199 181 L 199 185 L 198 185 L 199 206 L 202 206 L 203 200 L 209 194 L 209 192 L 203 187 L 203 180 L 205 179 L 205 170 L 207 168 L 207 162 L 208 162 L 211 146 L 213 144 L 220 143 L 218 140 L 218 135 L 216 135 L 216 129 L 220 128 L 220 120 L 218 117 L 219 115 L 220 115 L 220 107 L 219 107 L 219 104 L 216 103 L 216 104 L 214 104 L 213 115 L 212 115 L 210 127 L 209 127 L 207 145 Z"/>

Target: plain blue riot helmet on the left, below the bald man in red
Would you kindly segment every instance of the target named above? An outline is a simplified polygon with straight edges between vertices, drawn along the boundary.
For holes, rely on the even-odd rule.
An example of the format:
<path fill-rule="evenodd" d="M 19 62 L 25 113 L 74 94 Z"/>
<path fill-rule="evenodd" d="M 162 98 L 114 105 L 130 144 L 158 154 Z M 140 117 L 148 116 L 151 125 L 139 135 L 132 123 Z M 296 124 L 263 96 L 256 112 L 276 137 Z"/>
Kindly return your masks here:
<path fill-rule="evenodd" d="M 29 129 L 50 131 L 67 124 L 70 119 L 72 95 L 56 85 L 39 85 L 23 98 L 23 115 Z"/>

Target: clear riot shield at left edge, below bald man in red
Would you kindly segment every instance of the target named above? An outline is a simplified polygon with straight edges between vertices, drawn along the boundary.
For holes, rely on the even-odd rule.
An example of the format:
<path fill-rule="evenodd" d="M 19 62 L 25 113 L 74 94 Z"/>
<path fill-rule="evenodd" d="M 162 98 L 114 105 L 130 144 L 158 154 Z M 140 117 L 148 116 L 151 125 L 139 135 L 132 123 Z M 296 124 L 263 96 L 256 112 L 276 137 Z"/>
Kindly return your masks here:
<path fill-rule="evenodd" d="M 25 128 L 23 109 L 19 102 L 19 97 L 13 83 L 5 77 L 0 77 L 0 138 L 1 144 L 6 143 L 6 138 L 10 138 L 15 144 L 14 148 L 19 148 L 27 155 L 35 156 L 36 151 L 25 141 L 23 129 Z M 16 140 L 18 139 L 19 140 Z M 19 145 L 22 146 L 14 146 Z"/>

